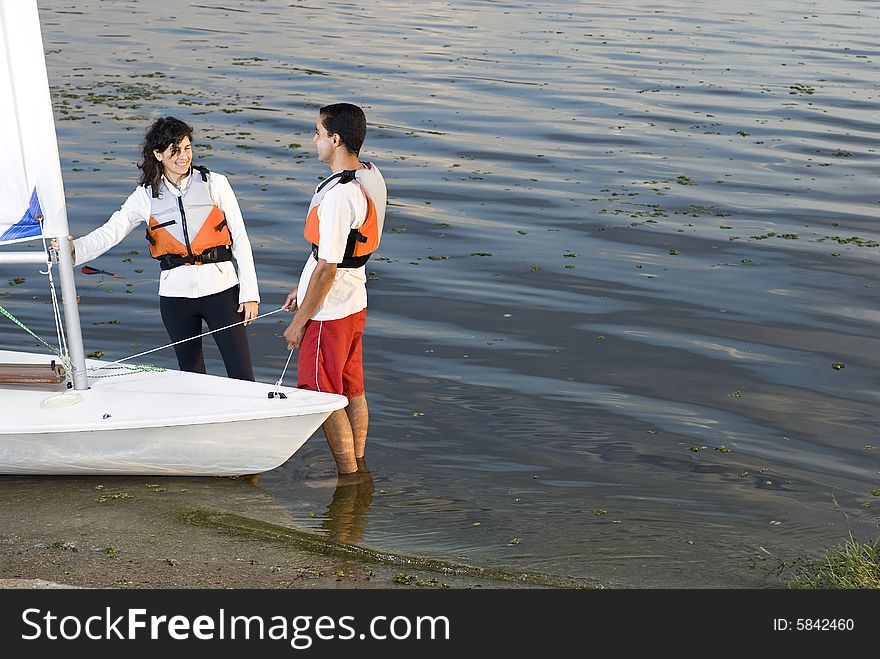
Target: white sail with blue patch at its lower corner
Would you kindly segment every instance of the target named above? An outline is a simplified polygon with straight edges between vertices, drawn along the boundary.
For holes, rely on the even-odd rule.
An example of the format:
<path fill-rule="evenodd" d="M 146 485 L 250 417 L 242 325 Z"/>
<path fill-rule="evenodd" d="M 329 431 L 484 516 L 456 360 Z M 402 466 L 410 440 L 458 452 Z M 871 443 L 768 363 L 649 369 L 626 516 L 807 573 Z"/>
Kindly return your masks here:
<path fill-rule="evenodd" d="M 33 0 L 0 0 L 0 145 L 0 244 L 42 234 L 66 237 L 55 120 Z"/>

